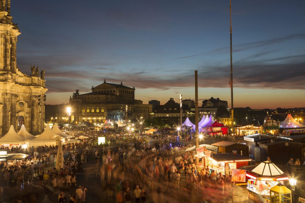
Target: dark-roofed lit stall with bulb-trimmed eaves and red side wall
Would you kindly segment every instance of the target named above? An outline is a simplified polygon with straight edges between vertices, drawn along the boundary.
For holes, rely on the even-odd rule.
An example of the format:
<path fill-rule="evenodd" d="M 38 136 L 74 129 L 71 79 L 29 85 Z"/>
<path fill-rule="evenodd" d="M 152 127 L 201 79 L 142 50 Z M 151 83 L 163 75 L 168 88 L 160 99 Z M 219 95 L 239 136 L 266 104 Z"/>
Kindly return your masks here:
<path fill-rule="evenodd" d="M 211 154 L 209 167 L 221 174 L 232 175 L 232 169 L 248 166 L 252 159 L 246 158 L 236 151 L 233 153 Z"/>

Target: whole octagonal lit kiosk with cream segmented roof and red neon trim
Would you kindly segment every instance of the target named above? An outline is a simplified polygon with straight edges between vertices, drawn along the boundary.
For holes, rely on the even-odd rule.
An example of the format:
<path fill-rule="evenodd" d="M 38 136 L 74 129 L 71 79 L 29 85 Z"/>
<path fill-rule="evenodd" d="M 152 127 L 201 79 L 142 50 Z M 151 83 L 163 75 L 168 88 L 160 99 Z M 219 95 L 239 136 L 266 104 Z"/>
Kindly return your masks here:
<path fill-rule="evenodd" d="M 279 169 L 274 163 L 270 161 L 263 161 L 253 170 L 251 170 L 251 172 L 246 173 L 246 176 L 249 178 L 247 189 L 248 200 L 251 203 L 270 202 L 270 195 L 274 199 L 275 193 L 279 193 L 279 188 L 274 186 L 278 185 L 279 183 L 284 184 L 284 181 L 289 179 L 286 173 L 284 173 L 281 169 Z M 291 203 L 291 201 L 272 202 Z"/>

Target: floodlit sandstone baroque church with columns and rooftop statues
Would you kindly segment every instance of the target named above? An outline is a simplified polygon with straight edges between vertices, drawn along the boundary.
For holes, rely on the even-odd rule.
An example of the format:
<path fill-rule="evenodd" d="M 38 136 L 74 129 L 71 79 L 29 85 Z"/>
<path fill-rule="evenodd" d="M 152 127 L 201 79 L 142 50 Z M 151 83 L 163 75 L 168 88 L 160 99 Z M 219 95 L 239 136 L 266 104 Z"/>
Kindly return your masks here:
<path fill-rule="evenodd" d="M 10 0 L 0 0 L 0 136 L 22 124 L 33 135 L 44 129 L 45 70 L 31 66 L 31 75 L 16 63 L 17 24 L 13 23 Z"/>

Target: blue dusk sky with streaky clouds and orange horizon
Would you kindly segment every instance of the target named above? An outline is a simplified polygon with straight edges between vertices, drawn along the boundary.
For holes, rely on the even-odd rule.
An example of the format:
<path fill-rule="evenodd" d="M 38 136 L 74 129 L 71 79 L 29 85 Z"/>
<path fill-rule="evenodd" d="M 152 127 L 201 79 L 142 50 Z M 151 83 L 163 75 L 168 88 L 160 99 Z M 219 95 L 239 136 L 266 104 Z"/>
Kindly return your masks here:
<path fill-rule="evenodd" d="M 305 107 L 305 1 L 232 0 L 234 106 Z M 230 103 L 229 1 L 12 1 L 17 63 L 46 69 L 47 104 L 123 82 L 135 99 Z M 201 106 L 201 104 L 200 104 Z"/>

